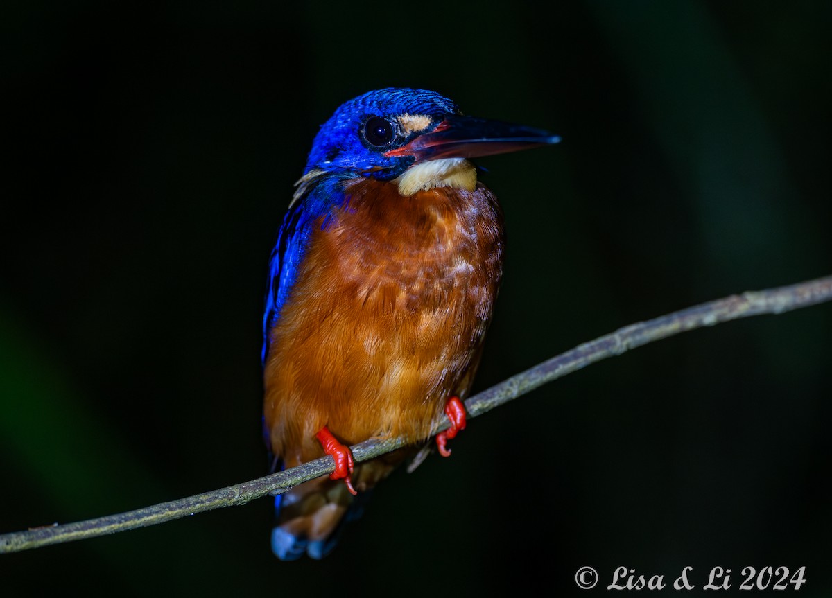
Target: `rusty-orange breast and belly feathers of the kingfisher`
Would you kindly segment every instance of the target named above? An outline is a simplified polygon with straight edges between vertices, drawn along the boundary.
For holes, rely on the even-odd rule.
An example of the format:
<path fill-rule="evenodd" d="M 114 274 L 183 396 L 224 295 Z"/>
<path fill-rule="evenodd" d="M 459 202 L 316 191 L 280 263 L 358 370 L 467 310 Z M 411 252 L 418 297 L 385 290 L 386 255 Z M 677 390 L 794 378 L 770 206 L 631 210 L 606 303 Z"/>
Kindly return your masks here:
<path fill-rule="evenodd" d="M 323 454 L 324 426 L 347 444 L 427 438 L 470 388 L 498 292 L 503 218 L 483 185 L 345 193 L 270 332 L 265 423 L 287 467 Z"/>

